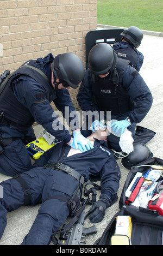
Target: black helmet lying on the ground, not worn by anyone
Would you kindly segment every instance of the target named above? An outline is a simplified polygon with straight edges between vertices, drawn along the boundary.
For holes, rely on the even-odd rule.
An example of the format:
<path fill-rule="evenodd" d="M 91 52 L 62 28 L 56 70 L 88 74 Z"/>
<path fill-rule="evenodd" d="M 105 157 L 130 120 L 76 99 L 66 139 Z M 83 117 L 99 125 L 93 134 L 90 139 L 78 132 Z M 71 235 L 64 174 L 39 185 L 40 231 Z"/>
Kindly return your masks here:
<path fill-rule="evenodd" d="M 148 158 L 151 158 L 153 153 L 145 145 L 135 144 L 134 151 L 128 154 L 127 157 L 122 158 L 122 164 L 125 168 L 131 169 L 131 167 L 140 164 Z"/>

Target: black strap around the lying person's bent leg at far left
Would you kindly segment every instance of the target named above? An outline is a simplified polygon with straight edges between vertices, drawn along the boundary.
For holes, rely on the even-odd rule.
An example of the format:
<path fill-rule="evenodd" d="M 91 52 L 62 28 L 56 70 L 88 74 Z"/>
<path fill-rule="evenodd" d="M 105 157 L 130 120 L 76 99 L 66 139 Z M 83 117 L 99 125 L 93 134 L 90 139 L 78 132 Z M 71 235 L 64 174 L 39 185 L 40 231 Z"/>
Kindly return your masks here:
<path fill-rule="evenodd" d="M 27 182 L 20 176 L 20 174 L 13 177 L 16 179 L 20 184 L 24 192 L 24 205 L 30 205 L 31 203 L 31 192 Z"/>

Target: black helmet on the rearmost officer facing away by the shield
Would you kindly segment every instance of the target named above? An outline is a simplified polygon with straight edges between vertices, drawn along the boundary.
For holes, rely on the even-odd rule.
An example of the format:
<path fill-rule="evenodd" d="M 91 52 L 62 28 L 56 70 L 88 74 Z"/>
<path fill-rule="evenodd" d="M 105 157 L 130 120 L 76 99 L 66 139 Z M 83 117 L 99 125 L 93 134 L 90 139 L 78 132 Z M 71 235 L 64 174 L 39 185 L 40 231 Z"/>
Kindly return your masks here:
<path fill-rule="evenodd" d="M 142 31 L 135 26 L 131 26 L 127 30 L 124 30 L 121 35 L 123 35 L 123 37 L 126 37 L 130 41 L 130 43 L 135 46 L 135 48 L 138 48 L 140 46 L 141 40 L 143 39 Z"/>

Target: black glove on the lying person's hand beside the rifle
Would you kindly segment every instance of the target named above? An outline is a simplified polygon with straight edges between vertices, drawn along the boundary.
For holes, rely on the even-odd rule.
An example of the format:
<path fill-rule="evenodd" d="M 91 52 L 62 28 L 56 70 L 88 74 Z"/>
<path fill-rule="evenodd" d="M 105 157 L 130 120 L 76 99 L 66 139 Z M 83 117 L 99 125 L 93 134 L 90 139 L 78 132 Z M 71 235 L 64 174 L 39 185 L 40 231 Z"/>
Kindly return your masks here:
<path fill-rule="evenodd" d="M 89 219 L 92 223 L 101 222 L 105 216 L 106 208 L 110 206 L 111 200 L 106 194 L 101 194 L 98 202 L 95 205 L 95 210 L 90 215 Z"/>

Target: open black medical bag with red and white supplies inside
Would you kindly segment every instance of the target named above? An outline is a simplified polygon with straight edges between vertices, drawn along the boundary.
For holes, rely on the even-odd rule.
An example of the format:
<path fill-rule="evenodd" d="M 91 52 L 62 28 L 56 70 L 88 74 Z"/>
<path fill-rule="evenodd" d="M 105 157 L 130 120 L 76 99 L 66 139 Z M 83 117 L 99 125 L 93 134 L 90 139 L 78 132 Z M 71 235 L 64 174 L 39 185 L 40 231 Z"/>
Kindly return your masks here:
<path fill-rule="evenodd" d="M 153 168 L 154 166 L 156 169 Z M 163 160 L 152 157 L 129 171 L 119 201 L 121 210 L 111 219 L 103 235 L 94 245 L 162 245 L 163 177 L 160 175 L 159 178 L 157 177 L 157 181 L 154 180 L 155 176 L 160 174 L 158 166 L 160 169 L 162 168 Z M 152 181 L 147 180 L 147 178 L 152 179 Z M 159 190 L 156 191 L 156 189 Z M 152 200 L 149 200 L 151 198 Z M 152 204 L 153 206 L 151 206 Z M 126 225 L 125 227 L 128 233 L 130 231 L 130 237 L 127 232 L 116 233 L 117 225 L 119 227 L 121 225 L 123 228 L 122 226 L 125 224 L 123 221 L 118 223 L 117 217 L 131 219 L 131 226 Z M 128 241 L 123 240 L 123 236 L 127 236 Z"/>

